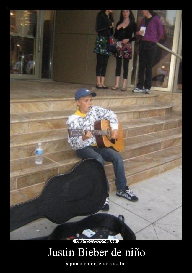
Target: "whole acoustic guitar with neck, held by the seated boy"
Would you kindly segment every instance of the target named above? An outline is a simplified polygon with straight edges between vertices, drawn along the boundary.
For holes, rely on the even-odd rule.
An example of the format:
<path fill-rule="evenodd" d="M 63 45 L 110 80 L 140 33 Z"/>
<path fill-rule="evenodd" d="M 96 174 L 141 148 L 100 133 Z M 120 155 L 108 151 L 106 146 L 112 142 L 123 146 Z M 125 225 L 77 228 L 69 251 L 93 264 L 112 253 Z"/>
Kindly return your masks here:
<path fill-rule="evenodd" d="M 123 131 L 121 128 L 121 122 L 118 120 L 118 138 L 112 139 L 112 130 L 109 125 L 109 121 L 106 119 L 98 120 L 94 123 L 94 130 L 89 130 L 92 135 L 95 135 L 98 148 L 110 147 L 118 152 L 124 149 Z M 69 138 L 86 135 L 88 130 L 81 129 L 68 129 Z"/>

